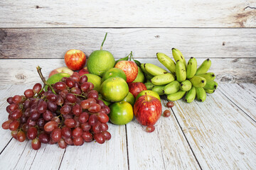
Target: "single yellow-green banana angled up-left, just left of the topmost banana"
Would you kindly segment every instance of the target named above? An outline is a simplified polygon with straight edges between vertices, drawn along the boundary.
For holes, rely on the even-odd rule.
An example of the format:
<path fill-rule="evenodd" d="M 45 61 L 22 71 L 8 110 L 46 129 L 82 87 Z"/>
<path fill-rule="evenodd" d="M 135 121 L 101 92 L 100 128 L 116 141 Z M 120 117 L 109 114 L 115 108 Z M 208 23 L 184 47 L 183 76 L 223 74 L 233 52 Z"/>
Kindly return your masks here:
<path fill-rule="evenodd" d="M 156 57 L 157 60 L 159 60 L 159 62 L 161 62 L 161 64 L 163 64 L 164 67 L 166 67 L 166 69 L 169 69 L 169 71 L 173 74 L 176 73 L 176 64 L 174 60 L 171 60 L 170 57 L 161 52 L 157 52 Z"/>

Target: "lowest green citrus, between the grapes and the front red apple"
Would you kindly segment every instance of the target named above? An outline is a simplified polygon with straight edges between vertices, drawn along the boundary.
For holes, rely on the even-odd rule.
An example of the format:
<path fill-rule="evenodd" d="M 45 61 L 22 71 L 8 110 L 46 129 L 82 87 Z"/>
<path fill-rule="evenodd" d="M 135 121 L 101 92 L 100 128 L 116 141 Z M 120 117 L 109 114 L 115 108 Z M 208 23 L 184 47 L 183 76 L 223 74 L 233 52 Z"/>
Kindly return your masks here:
<path fill-rule="evenodd" d="M 134 116 L 132 105 L 126 101 L 119 101 L 110 105 L 110 121 L 115 125 L 125 125 Z"/>

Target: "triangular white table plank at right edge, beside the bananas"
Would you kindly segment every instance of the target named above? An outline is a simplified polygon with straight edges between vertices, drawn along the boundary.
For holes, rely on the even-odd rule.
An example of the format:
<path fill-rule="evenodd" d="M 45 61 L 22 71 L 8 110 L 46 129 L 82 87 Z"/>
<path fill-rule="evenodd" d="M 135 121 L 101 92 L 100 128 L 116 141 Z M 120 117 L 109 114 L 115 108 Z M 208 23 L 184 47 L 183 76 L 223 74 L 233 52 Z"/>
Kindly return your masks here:
<path fill-rule="evenodd" d="M 256 121 L 255 84 L 221 84 L 220 91 Z"/>

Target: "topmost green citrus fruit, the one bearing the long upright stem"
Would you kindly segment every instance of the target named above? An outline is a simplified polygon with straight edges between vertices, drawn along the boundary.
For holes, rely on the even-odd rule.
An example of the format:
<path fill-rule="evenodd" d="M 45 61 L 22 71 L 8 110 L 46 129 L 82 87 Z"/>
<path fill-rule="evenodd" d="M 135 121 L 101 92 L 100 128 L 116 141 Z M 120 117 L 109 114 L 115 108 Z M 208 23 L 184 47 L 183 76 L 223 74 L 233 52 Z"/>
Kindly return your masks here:
<path fill-rule="evenodd" d="M 90 54 L 87 61 L 88 72 L 102 77 L 107 70 L 114 67 L 113 55 L 106 50 L 95 50 Z"/>

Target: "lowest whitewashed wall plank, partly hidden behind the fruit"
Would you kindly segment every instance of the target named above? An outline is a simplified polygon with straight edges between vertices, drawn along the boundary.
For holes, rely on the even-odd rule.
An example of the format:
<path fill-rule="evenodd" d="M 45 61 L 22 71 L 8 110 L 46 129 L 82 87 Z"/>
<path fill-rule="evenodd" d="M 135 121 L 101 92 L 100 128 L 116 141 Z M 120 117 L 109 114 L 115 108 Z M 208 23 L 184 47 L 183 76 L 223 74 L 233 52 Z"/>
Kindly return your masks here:
<path fill-rule="evenodd" d="M 142 63 L 149 62 L 164 68 L 156 59 L 138 59 Z M 205 59 L 198 59 L 201 64 Z M 227 83 L 256 83 L 255 58 L 211 59 L 209 72 L 214 72 L 216 81 Z M 29 84 L 32 88 L 36 82 L 41 82 L 36 66 L 42 67 L 43 75 L 48 78 L 51 70 L 65 67 L 63 59 L 31 59 L 31 60 L 0 60 L 0 84 Z M 25 90 L 25 89 L 24 89 Z M 17 91 L 19 93 L 19 91 Z M 23 93 L 23 91 L 22 91 Z"/>

